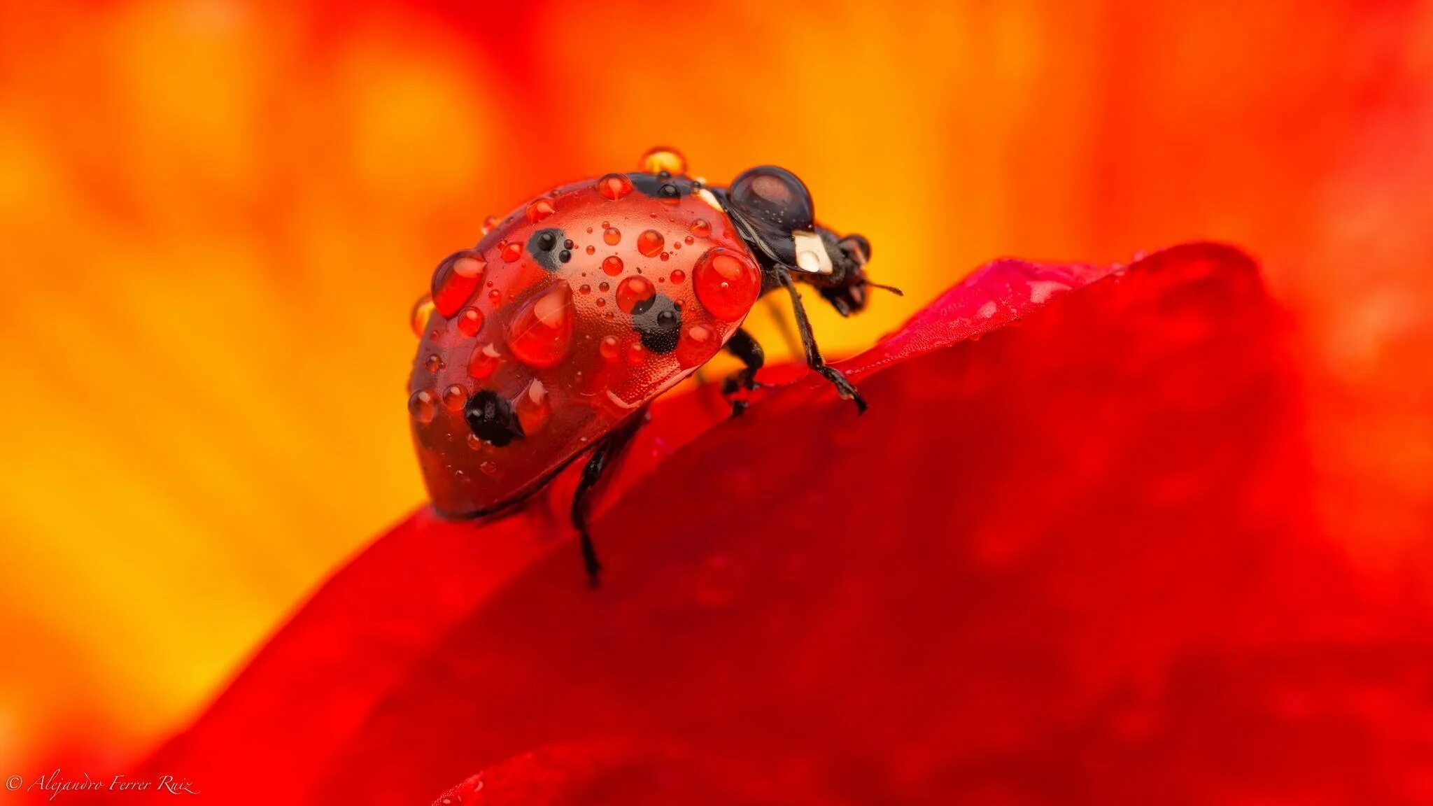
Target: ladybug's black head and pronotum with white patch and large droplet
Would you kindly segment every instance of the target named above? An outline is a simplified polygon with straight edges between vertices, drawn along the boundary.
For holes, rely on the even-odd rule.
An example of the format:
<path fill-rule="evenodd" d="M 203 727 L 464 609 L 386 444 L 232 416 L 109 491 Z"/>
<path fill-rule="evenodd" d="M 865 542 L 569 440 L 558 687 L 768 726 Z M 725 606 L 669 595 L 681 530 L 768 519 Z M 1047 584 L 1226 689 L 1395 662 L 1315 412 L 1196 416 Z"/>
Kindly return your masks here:
<path fill-rule="evenodd" d="M 811 191 L 795 174 L 775 165 L 752 168 L 727 191 L 732 214 L 764 268 L 784 268 L 815 285 L 841 316 L 866 308 L 867 287 L 887 288 L 866 277 L 871 244 L 863 235 L 837 235 L 815 222 Z"/>

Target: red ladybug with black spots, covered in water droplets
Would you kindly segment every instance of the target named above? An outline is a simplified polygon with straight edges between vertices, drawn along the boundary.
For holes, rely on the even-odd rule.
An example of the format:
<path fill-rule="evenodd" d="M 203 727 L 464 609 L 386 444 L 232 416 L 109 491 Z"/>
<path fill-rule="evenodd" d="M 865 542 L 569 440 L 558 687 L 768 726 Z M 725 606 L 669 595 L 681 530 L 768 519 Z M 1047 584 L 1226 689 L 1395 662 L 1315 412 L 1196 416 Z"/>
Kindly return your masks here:
<path fill-rule="evenodd" d="M 741 328 L 757 300 L 791 297 L 807 364 L 858 412 L 821 359 L 795 283 L 841 316 L 867 303 L 870 242 L 814 218 L 790 171 L 752 168 L 727 188 L 686 176 L 672 149 L 642 171 L 560 185 L 446 257 L 414 308 L 421 336 L 408 412 L 433 506 L 447 518 L 504 509 L 589 453 L 572 502 L 588 577 L 600 564 L 588 495 L 656 396 L 725 349 L 745 367 L 722 392 L 739 414 L 764 356 Z"/>

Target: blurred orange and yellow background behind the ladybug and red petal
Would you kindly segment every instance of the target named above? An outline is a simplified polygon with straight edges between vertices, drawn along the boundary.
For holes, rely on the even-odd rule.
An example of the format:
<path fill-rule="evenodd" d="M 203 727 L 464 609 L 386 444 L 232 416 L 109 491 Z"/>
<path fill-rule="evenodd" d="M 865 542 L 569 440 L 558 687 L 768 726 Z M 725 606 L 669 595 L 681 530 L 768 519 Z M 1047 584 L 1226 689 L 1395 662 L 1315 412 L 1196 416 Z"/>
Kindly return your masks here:
<path fill-rule="evenodd" d="M 0 0 L 0 772 L 133 759 L 418 505 L 433 264 L 656 143 L 870 237 L 835 354 L 997 255 L 1245 247 L 1328 538 L 1433 582 L 1433 4 Z"/>

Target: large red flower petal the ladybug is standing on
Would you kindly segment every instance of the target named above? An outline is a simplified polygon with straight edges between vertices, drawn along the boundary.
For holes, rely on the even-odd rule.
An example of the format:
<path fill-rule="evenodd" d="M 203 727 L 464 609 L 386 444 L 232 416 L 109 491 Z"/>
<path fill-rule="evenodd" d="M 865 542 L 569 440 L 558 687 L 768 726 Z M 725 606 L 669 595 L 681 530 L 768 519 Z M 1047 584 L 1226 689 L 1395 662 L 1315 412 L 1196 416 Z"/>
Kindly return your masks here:
<path fill-rule="evenodd" d="M 1181 247 L 1032 314 L 1096 275 L 992 264 L 843 364 L 861 419 L 813 377 L 699 436 L 666 403 L 599 592 L 549 508 L 420 513 L 152 767 L 267 803 L 486 767 L 553 803 L 714 769 L 762 782 L 725 802 L 1426 797 L 1433 647 L 1310 534 L 1254 267 Z"/>

